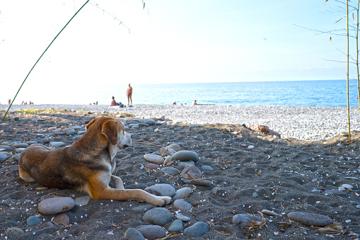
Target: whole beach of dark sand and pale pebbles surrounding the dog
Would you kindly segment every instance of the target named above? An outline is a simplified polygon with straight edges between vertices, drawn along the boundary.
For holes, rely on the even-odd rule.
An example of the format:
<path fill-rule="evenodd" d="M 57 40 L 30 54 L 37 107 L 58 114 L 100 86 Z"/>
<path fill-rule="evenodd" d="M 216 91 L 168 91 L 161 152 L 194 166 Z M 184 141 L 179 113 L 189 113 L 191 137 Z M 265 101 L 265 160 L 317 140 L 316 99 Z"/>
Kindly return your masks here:
<path fill-rule="evenodd" d="M 28 146 L 69 146 L 101 116 L 121 120 L 132 135 L 132 147 L 115 156 L 124 188 L 168 196 L 169 205 L 93 200 L 19 177 Z M 6 119 L 0 239 L 360 238 L 360 134 L 342 140 L 346 108 L 14 105 Z M 267 125 L 281 138 L 243 124 Z M 286 135 L 332 142 L 298 144 Z"/>

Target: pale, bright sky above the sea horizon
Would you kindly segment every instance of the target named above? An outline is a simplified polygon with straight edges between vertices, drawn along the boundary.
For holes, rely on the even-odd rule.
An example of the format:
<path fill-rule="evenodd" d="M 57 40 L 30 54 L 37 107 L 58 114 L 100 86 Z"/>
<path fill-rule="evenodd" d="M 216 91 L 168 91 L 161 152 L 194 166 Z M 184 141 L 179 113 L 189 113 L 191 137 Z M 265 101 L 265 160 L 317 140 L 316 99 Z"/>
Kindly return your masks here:
<path fill-rule="evenodd" d="M 0 101 L 13 98 L 85 2 L 0 1 Z M 313 31 L 344 33 L 338 1 L 146 0 L 143 6 L 89 1 L 37 63 L 24 91 L 346 79 L 346 38 Z M 356 77 L 353 65 L 350 77 Z"/>

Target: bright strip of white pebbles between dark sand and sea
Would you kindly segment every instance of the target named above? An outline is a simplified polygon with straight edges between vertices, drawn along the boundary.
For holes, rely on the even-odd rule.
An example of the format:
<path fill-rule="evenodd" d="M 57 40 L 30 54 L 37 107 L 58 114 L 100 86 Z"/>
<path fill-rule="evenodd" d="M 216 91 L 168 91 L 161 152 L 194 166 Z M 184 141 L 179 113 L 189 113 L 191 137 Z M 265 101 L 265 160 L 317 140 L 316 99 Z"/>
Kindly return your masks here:
<path fill-rule="evenodd" d="M 0 105 L 7 110 L 8 105 Z M 129 113 L 136 118 L 164 117 L 188 124 L 265 125 L 281 138 L 316 141 L 348 131 L 347 108 L 311 106 L 226 106 L 226 105 L 134 105 L 117 108 L 109 105 L 12 105 L 10 112 L 26 109 L 66 109 L 93 113 Z M 350 108 L 351 130 L 360 130 L 358 108 Z"/>

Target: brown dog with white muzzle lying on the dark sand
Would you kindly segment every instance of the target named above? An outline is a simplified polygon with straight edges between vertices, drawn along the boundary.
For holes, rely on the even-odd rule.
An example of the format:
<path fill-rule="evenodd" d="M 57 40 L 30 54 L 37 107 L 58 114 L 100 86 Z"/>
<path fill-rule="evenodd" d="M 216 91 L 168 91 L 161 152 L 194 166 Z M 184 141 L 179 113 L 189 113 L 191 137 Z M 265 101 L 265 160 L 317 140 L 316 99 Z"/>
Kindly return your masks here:
<path fill-rule="evenodd" d="M 124 189 L 115 171 L 115 155 L 132 146 L 132 137 L 119 120 L 101 117 L 86 125 L 86 133 L 69 147 L 50 149 L 32 144 L 21 153 L 19 175 L 27 182 L 50 188 L 73 189 L 91 198 L 138 200 L 155 206 L 168 205 L 170 197 L 140 189 Z M 110 187 L 110 183 L 115 188 Z"/>

